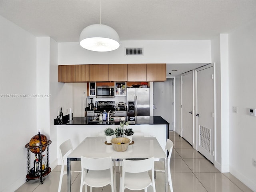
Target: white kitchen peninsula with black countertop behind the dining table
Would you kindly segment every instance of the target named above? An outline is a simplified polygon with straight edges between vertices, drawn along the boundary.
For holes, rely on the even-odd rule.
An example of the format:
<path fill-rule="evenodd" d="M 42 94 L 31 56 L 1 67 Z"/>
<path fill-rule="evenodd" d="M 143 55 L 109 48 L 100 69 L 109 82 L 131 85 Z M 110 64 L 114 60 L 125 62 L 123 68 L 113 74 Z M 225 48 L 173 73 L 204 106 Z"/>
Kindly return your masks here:
<path fill-rule="evenodd" d="M 91 117 L 73 117 L 72 121 L 64 123 L 66 124 L 55 124 L 58 135 L 57 146 L 70 139 L 73 148 L 76 148 L 88 136 L 99 136 L 100 133 L 104 134 L 106 128 L 115 129 L 119 126 L 119 122 L 114 121 L 93 122 Z M 169 123 L 161 116 L 137 116 L 129 123 L 128 127 L 134 132 L 156 137 L 164 150 L 166 139 L 169 137 Z"/>

